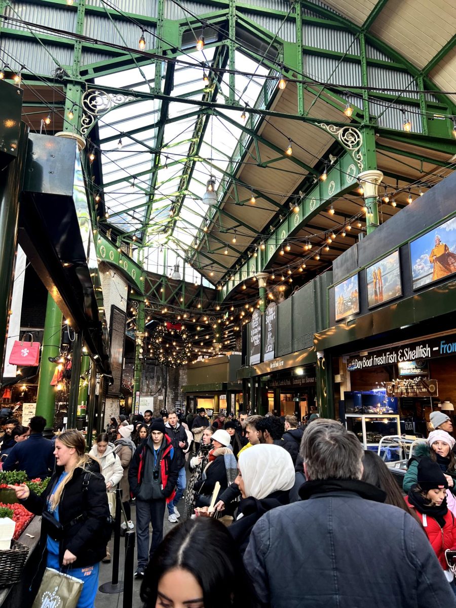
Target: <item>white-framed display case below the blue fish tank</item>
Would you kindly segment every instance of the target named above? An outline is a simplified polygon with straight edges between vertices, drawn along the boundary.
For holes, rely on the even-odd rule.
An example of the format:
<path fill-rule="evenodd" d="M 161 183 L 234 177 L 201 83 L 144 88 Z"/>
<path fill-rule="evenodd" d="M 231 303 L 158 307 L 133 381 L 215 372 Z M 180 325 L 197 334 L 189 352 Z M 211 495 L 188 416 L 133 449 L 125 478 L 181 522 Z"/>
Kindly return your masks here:
<path fill-rule="evenodd" d="M 385 435 L 401 434 L 398 415 L 346 414 L 345 426 L 347 426 L 348 430 L 353 431 L 363 444 L 365 450 L 372 449 L 377 451 L 382 437 L 385 437 Z M 389 450 L 390 448 L 385 445 L 384 449 Z M 394 461 L 399 457 L 394 451 L 391 451 L 390 454 L 380 455 L 385 462 Z"/>

